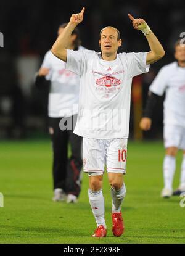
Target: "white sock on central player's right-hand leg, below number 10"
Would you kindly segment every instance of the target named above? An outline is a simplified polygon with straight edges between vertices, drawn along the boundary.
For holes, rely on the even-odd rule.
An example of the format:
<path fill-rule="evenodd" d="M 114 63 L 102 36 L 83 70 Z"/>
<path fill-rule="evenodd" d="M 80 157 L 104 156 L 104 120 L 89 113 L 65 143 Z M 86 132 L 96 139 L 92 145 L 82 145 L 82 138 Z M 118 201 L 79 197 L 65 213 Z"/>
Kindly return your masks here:
<path fill-rule="evenodd" d="M 123 186 L 118 190 L 111 188 L 111 195 L 112 195 L 112 213 L 121 212 L 121 204 L 126 195 L 125 184 L 123 183 Z"/>

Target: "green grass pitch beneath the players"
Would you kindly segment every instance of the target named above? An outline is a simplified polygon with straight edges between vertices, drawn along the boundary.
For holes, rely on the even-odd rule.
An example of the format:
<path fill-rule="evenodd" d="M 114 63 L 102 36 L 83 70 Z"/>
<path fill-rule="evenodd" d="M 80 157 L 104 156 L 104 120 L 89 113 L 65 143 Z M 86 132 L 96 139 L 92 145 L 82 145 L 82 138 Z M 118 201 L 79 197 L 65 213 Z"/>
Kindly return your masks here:
<path fill-rule="evenodd" d="M 125 233 L 111 231 L 111 197 L 104 175 L 107 237 L 92 238 L 96 228 L 88 202 L 88 176 L 78 204 L 52 202 L 52 151 L 49 139 L 1 141 L 0 243 L 185 243 L 185 207 L 180 198 L 160 198 L 163 186 L 162 142 L 128 141 L 127 194 L 122 212 Z M 181 152 L 177 157 L 174 187 L 178 186 Z"/>

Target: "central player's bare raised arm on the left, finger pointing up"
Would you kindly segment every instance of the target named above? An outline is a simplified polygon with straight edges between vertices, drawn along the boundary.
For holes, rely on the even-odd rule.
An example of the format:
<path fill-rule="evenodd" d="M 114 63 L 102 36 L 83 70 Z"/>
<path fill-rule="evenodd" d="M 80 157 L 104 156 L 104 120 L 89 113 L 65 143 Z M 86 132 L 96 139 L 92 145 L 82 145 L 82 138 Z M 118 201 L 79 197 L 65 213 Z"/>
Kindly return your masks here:
<path fill-rule="evenodd" d="M 75 27 L 83 21 L 84 7 L 79 14 L 72 14 L 69 23 L 64 28 L 64 31 L 59 35 L 54 45 L 51 48 L 52 54 L 63 61 L 67 61 L 67 49 L 65 47 L 68 44 L 68 38 L 72 35 Z"/>

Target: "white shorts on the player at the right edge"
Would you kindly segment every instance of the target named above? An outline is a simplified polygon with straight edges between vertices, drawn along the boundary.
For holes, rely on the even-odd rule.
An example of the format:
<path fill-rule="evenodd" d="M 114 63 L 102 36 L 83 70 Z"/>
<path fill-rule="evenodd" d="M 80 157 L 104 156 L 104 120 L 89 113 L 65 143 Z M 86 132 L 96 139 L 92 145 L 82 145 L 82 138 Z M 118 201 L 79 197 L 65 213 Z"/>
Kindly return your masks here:
<path fill-rule="evenodd" d="M 164 125 L 164 146 L 185 149 L 185 128 L 178 125 Z"/>

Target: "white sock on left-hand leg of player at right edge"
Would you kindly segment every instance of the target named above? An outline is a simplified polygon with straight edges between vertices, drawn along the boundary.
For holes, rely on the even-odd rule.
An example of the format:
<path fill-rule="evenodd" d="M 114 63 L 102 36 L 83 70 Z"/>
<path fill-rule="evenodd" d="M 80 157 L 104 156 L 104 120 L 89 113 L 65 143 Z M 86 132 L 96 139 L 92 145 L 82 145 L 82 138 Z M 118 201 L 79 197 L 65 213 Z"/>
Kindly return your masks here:
<path fill-rule="evenodd" d="M 176 159 L 171 155 L 165 155 L 163 160 L 163 178 L 165 188 L 172 189 L 173 187 L 173 176 L 176 168 Z"/>

